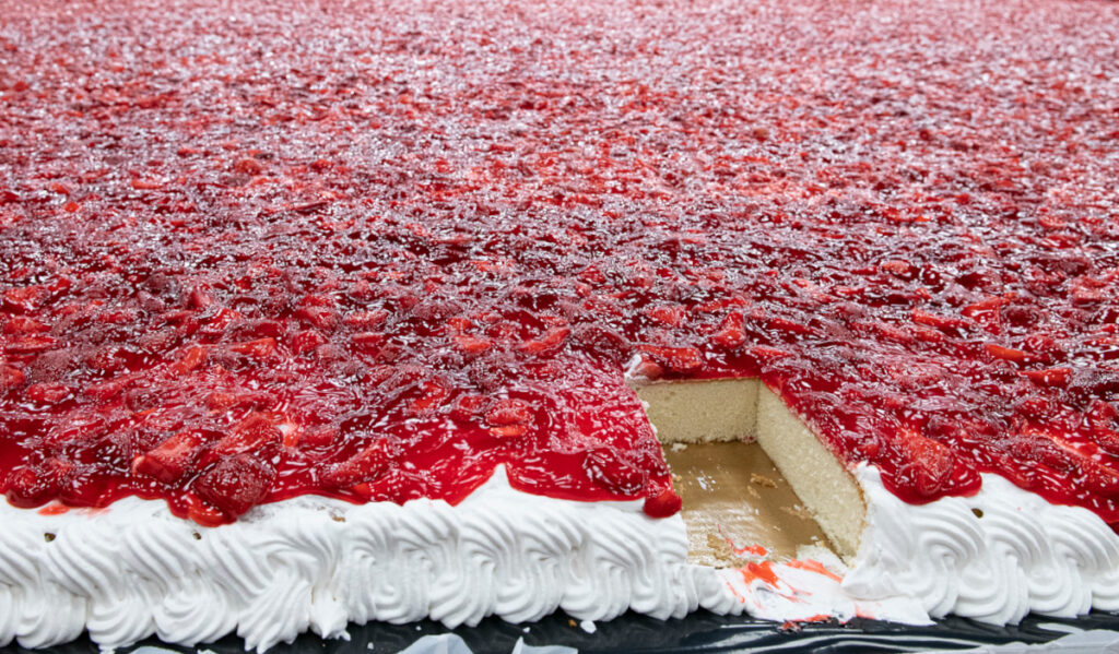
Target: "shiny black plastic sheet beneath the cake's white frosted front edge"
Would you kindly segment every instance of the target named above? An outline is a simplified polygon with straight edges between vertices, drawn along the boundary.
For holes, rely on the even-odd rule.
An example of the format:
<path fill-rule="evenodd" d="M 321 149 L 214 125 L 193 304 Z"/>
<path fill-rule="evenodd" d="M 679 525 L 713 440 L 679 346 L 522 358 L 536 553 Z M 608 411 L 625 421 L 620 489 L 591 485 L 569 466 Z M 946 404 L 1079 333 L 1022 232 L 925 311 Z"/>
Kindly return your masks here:
<path fill-rule="evenodd" d="M 455 633 L 474 654 L 508 654 L 518 638 L 527 645 L 565 645 L 584 653 L 707 653 L 707 652 L 928 652 L 930 650 L 963 650 L 978 645 L 1013 642 L 1043 643 L 1080 629 L 1119 632 L 1119 615 L 1092 613 L 1076 619 L 1028 616 L 1017 626 L 995 627 L 963 618 L 948 618 L 935 625 L 914 627 L 875 620 L 855 619 L 846 625 L 835 623 L 783 627 L 777 623 L 749 616 L 717 616 L 698 612 L 683 619 L 658 620 L 636 614 L 596 623 L 593 634 L 586 633 L 564 614 L 549 616 L 530 625 L 511 625 L 497 618 L 483 620 L 473 628 L 446 629 L 433 622 L 411 625 L 350 625 L 350 639 L 325 641 L 304 634 L 292 644 L 278 645 L 272 654 L 367 654 L 398 652 L 422 636 Z M 373 647 L 369 647 L 369 645 Z M 198 647 L 163 645 L 156 639 L 140 643 L 180 652 L 209 650 L 216 654 L 244 652 L 237 637 Z M 135 647 L 122 648 L 124 654 Z M 87 638 L 53 647 L 29 651 L 17 646 L 0 647 L 0 654 L 38 652 L 44 654 L 95 654 L 97 646 Z"/>

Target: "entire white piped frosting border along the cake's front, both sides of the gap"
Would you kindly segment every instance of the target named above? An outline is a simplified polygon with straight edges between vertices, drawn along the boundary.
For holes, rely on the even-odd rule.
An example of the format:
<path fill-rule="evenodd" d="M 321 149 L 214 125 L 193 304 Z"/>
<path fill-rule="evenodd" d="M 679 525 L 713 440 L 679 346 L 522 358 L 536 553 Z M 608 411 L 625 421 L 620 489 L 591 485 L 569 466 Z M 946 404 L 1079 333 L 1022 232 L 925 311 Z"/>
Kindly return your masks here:
<path fill-rule="evenodd" d="M 521 493 L 501 468 L 458 506 L 303 496 L 213 529 L 135 497 L 59 515 L 0 501 L 0 646 L 49 646 L 88 629 L 110 648 L 236 632 L 265 650 L 309 629 L 346 637 L 349 622 L 532 622 L 561 608 L 590 620 L 704 607 L 914 624 L 1119 609 L 1119 537 L 1091 512 L 997 475 L 984 475 L 972 497 L 925 505 L 891 494 L 873 467 L 856 477 L 868 527 L 841 584 L 794 566 L 773 566 L 772 585 L 689 565 L 679 515 Z"/>

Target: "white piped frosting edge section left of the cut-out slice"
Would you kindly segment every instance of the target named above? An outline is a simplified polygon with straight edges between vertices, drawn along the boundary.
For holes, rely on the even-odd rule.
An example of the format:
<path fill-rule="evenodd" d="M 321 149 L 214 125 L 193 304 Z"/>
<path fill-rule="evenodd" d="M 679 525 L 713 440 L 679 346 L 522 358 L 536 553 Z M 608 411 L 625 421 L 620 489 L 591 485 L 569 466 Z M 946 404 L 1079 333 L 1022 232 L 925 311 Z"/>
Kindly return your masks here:
<path fill-rule="evenodd" d="M 308 629 L 344 636 L 349 622 L 734 612 L 715 570 L 686 562 L 683 519 L 641 504 L 517 492 L 504 468 L 458 506 L 303 496 L 213 529 L 135 497 L 62 515 L 0 502 L 0 645 L 83 629 L 103 647 L 152 634 L 192 645 L 236 631 L 264 650 Z"/>

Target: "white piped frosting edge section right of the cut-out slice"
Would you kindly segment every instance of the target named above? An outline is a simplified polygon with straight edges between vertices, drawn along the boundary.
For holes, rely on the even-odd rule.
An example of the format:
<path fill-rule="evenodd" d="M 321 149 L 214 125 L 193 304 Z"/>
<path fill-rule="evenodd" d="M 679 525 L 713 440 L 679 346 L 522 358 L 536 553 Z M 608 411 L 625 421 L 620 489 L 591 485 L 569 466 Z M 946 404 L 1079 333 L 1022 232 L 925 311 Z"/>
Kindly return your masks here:
<path fill-rule="evenodd" d="M 970 497 L 906 504 L 878 471 L 856 470 L 867 528 L 844 588 L 916 597 L 934 617 L 1017 623 L 1029 612 L 1119 610 L 1119 535 L 1087 509 L 1051 504 L 984 474 Z"/>

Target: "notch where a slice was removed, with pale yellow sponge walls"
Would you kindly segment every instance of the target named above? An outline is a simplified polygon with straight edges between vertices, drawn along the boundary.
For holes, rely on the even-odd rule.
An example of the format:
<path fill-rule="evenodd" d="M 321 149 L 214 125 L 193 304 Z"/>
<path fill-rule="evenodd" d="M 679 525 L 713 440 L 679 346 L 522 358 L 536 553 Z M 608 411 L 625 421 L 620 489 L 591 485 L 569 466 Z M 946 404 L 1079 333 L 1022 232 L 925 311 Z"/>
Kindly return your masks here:
<path fill-rule="evenodd" d="M 657 428 L 658 438 L 666 445 L 669 465 L 681 477 L 677 485 L 685 499 L 689 556 L 698 562 L 711 565 L 713 559 L 718 562 L 718 550 L 709 544 L 712 530 L 717 529 L 722 520 L 734 520 L 741 524 L 742 521 L 735 520 L 727 509 L 726 494 L 735 493 L 736 489 L 741 502 L 762 505 L 750 509 L 755 511 L 759 523 L 767 519 L 778 521 L 775 530 L 760 524 L 752 531 L 745 530 L 769 540 L 760 544 L 780 552 L 798 541 L 810 540 L 812 530 L 800 524 L 796 505 L 779 504 L 775 510 L 772 504 L 764 506 L 767 503 L 787 502 L 788 495 L 765 491 L 767 497 L 762 499 L 761 489 L 780 490 L 787 482 L 815 518 L 836 553 L 847 560 L 854 558 L 866 523 L 866 505 L 858 484 L 805 421 L 764 383 L 758 379 L 666 382 L 641 386 L 637 392 L 648 405 L 649 419 Z M 687 449 L 680 452 L 678 445 L 708 444 L 704 445 L 706 448 L 714 447 L 709 444 L 734 442 L 756 443 L 762 452 L 723 447 L 709 454 L 693 452 L 685 457 Z M 768 462 L 762 461 L 763 457 L 768 457 L 780 471 L 780 477 L 764 473 Z M 702 458 L 707 458 L 708 463 L 704 464 Z M 724 487 L 717 493 L 700 500 L 709 511 L 690 502 L 702 495 L 702 492 L 695 492 L 694 486 L 706 485 L 706 490 L 712 486 L 696 481 L 697 471 L 702 468 L 708 471 L 703 474 L 726 475 L 723 478 L 728 480 L 721 484 Z M 746 515 L 743 521 L 749 519 Z"/>

